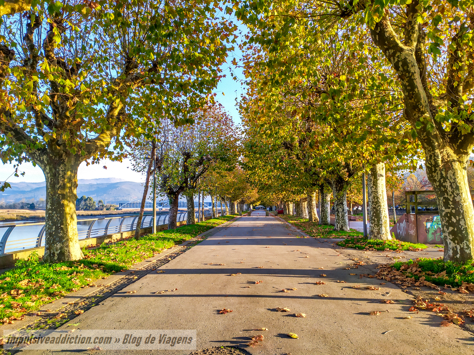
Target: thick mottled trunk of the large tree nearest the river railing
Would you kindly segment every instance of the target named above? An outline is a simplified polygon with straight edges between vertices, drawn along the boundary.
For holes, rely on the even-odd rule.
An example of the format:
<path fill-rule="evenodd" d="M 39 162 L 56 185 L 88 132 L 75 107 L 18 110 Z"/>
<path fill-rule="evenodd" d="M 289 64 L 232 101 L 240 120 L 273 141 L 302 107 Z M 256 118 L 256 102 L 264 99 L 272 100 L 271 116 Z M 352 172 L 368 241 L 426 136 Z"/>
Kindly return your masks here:
<path fill-rule="evenodd" d="M 38 162 L 46 178 L 45 255 L 43 260 L 79 260 L 84 257 L 77 234 L 76 189 L 79 157 L 45 156 Z"/>

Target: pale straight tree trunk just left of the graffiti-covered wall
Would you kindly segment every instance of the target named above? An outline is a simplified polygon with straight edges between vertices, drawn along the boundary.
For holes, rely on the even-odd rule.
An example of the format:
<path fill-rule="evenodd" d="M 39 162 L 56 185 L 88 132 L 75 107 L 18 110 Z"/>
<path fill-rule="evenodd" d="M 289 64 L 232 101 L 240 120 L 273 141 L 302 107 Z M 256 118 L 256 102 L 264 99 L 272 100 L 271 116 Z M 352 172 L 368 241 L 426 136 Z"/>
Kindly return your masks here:
<path fill-rule="evenodd" d="M 370 168 L 367 189 L 369 195 L 369 239 L 392 240 L 387 208 L 384 163 L 375 164 Z"/>

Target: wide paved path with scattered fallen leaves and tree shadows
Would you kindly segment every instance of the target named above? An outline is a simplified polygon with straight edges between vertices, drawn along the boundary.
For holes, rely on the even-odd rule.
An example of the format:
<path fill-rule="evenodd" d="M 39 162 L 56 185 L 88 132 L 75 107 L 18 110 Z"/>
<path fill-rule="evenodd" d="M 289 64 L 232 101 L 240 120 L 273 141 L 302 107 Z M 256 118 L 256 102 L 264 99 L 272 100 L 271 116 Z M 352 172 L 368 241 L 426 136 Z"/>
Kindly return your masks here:
<path fill-rule="evenodd" d="M 346 270 L 353 263 L 346 250 L 339 253 L 325 240 L 297 238 L 300 234 L 287 223 L 257 214 L 264 211 L 238 219 L 171 260 L 162 268 L 165 273 L 140 278 L 75 318 L 70 323 L 79 325 L 71 328 L 197 329 L 198 349 L 245 347 L 250 336 L 263 334 L 262 346 L 245 348 L 262 355 L 473 353 L 471 335 L 456 326 L 439 327 L 442 319 L 435 314 L 411 313 L 413 319 L 403 319 L 409 315 L 411 296 L 390 283 L 380 286 L 376 278 L 349 275 L 374 271 L 368 266 Z M 259 280 L 262 283 L 255 284 Z M 326 284 L 316 285 L 318 281 Z M 178 290 L 156 293 L 174 288 Z M 292 288 L 298 290 L 282 292 Z M 132 290 L 137 292 L 126 293 Z M 323 293 L 329 297 L 318 296 Z M 396 302 L 382 304 L 382 298 Z M 291 311 L 277 312 L 277 307 Z M 223 308 L 233 312 L 219 314 Z M 381 314 L 370 316 L 370 311 Z M 300 312 L 307 317 L 295 317 Z M 263 327 L 269 330 L 252 332 Z M 288 337 L 290 332 L 300 338 Z"/>

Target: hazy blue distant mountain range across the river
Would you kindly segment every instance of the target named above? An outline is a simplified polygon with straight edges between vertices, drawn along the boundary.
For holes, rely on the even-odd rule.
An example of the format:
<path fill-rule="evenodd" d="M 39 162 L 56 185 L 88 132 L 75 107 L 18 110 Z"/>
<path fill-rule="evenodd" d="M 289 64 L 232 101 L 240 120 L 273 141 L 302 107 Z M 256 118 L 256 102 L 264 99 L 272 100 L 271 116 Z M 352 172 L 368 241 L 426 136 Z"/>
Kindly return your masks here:
<path fill-rule="evenodd" d="M 46 183 L 43 182 L 16 182 L 11 188 L 0 192 L 0 202 L 5 203 L 46 199 Z M 91 196 L 95 201 L 107 200 L 108 204 L 118 204 L 131 200 L 141 199 L 143 186 L 133 181 L 125 181 L 117 177 L 99 179 L 79 179 L 77 195 Z"/>

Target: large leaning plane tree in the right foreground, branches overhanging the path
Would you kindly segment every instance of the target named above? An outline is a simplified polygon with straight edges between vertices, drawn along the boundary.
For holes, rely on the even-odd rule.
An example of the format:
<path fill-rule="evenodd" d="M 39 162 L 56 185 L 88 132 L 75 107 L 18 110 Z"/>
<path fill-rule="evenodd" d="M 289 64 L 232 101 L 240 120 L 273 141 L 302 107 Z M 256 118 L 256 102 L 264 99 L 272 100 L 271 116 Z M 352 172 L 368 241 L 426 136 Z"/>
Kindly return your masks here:
<path fill-rule="evenodd" d="M 288 71 L 292 55 L 313 44 L 324 47 L 328 31 L 344 27 L 353 35 L 341 44 L 363 45 L 368 31 L 378 48 L 371 61 L 392 70 L 401 88 L 401 122 L 406 139 L 417 139 L 437 195 L 445 261 L 463 262 L 474 254 L 474 207 L 466 165 L 474 147 L 471 112 L 474 90 L 472 4 L 470 1 L 335 1 L 269 4 L 236 1 L 237 17 L 259 28 L 252 41 L 282 53 L 272 63 Z M 315 55 L 321 51 L 313 52 Z M 301 64 L 301 68 L 303 65 Z M 386 82 L 373 75 L 372 85 Z M 386 98 L 381 98 L 385 102 Z M 374 107 L 373 113 L 380 113 Z"/>

